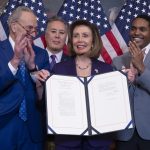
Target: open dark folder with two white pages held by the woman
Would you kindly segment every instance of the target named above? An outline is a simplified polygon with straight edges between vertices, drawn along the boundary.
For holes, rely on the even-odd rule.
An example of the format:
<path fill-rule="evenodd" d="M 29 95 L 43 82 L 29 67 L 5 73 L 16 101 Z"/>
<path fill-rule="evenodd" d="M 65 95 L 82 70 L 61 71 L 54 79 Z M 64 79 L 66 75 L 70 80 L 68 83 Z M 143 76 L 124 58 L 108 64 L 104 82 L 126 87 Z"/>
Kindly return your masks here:
<path fill-rule="evenodd" d="M 46 81 L 48 134 L 96 135 L 132 127 L 126 76 L 52 75 Z"/>

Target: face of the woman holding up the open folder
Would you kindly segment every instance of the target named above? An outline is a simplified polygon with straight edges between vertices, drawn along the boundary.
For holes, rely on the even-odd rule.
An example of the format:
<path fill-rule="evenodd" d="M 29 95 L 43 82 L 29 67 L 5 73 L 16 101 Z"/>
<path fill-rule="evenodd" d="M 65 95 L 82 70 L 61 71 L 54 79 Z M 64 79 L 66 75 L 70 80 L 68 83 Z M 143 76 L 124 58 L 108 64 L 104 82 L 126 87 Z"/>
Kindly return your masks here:
<path fill-rule="evenodd" d="M 93 43 L 92 31 L 85 25 L 76 26 L 72 37 L 73 49 L 77 55 L 87 55 Z"/>

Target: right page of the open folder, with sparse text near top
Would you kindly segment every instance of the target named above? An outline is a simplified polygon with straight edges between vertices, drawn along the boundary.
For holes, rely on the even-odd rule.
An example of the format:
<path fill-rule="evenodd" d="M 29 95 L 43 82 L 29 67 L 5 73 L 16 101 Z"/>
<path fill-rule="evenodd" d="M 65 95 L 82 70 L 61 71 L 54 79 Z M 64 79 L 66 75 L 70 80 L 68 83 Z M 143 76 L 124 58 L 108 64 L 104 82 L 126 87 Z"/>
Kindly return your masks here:
<path fill-rule="evenodd" d="M 100 133 L 125 129 L 131 121 L 126 77 L 118 71 L 97 75 L 88 89 L 92 127 Z"/>

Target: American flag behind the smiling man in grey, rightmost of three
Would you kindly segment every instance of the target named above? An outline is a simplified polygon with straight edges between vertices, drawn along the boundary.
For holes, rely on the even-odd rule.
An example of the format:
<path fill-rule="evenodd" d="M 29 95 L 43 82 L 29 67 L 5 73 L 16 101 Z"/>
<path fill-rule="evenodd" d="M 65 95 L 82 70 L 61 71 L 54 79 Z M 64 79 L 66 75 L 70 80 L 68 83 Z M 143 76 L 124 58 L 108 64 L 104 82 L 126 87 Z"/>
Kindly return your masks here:
<path fill-rule="evenodd" d="M 150 16 L 150 0 L 127 0 L 112 27 L 112 32 L 124 50 L 127 49 L 130 40 L 129 31 L 131 22 L 140 14 Z"/>

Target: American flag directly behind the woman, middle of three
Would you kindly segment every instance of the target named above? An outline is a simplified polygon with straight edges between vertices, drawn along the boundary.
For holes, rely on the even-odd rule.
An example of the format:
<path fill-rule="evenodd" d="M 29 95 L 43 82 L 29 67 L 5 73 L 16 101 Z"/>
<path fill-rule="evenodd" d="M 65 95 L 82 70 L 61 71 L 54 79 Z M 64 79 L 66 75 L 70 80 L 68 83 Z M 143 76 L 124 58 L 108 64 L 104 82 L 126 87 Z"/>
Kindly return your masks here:
<path fill-rule="evenodd" d="M 61 16 L 69 24 L 75 20 L 84 19 L 97 25 L 103 41 L 100 60 L 111 63 L 115 56 L 123 53 L 117 39 L 111 32 L 111 26 L 100 0 L 65 0 L 58 16 Z"/>

